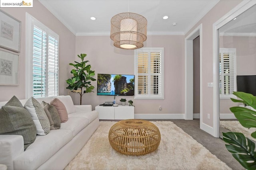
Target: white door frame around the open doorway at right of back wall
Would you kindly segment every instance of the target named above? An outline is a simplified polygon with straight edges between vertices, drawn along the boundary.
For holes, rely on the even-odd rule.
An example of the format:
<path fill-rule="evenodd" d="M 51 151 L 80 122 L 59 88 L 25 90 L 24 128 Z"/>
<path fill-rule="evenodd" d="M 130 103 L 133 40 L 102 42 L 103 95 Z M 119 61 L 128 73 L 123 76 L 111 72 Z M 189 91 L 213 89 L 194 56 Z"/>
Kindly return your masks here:
<path fill-rule="evenodd" d="M 200 128 L 202 127 L 202 23 L 185 38 L 185 119 L 193 119 L 193 40 L 200 43 Z"/>

